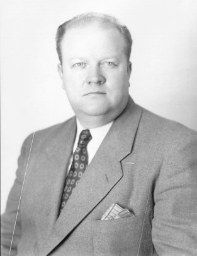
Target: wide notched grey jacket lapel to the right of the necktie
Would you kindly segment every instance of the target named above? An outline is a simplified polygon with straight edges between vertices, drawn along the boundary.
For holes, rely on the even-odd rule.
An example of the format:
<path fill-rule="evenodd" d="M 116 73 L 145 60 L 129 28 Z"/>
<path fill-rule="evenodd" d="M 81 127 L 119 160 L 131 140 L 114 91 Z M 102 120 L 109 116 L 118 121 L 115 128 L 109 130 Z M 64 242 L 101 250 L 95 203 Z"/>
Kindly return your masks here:
<path fill-rule="evenodd" d="M 52 232 L 45 240 L 44 255 L 69 235 L 120 181 L 123 176 L 121 160 L 132 151 L 141 113 L 141 108 L 130 99 L 125 111 L 113 122 L 98 152 L 55 222 Z"/>

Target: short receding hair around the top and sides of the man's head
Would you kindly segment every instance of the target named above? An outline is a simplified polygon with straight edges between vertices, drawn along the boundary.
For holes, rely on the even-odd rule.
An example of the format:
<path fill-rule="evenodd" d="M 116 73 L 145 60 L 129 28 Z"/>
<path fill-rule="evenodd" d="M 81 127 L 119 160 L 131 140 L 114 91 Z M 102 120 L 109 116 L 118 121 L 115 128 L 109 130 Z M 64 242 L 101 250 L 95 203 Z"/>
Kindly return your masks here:
<path fill-rule="evenodd" d="M 64 39 L 64 35 L 70 28 L 84 27 L 90 23 L 97 22 L 103 28 L 116 28 L 126 43 L 126 56 L 128 61 L 130 59 L 130 54 L 132 51 L 132 36 L 128 28 L 121 24 L 119 20 L 115 17 L 102 14 L 102 13 L 82 13 L 81 15 L 74 16 L 74 18 L 65 21 L 62 25 L 57 28 L 56 34 L 56 49 L 59 56 L 60 63 L 62 63 L 62 51 L 61 42 Z"/>

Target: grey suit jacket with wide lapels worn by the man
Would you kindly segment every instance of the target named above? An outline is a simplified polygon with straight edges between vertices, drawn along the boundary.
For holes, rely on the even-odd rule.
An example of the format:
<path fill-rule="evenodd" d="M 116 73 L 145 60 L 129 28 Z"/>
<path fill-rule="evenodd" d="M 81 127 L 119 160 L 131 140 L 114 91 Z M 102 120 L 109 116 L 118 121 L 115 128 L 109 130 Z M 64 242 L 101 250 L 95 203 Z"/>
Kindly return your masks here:
<path fill-rule="evenodd" d="M 71 118 L 23 143 L 1 218 L 2 255 L 8 255 L 26 170 L 13 255 L 194 255 L 196 132 L 130 99 L 58 217 L 75 136 Z M 134 216 L 101 221 L 113 203 Z"/>

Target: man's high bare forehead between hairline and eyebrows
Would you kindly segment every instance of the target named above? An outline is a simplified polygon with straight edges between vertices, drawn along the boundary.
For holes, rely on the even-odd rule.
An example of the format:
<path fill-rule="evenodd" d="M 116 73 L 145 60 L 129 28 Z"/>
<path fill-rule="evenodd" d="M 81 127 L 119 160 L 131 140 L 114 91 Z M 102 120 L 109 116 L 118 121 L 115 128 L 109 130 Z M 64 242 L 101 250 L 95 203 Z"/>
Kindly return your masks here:
<path fill-rule="evenodd" d="M 117 28 L 104 28 L 98 23 L 69 28 L 61 42 L 62 56 L 70 54 L 123 54 L 126 43 Z"/>

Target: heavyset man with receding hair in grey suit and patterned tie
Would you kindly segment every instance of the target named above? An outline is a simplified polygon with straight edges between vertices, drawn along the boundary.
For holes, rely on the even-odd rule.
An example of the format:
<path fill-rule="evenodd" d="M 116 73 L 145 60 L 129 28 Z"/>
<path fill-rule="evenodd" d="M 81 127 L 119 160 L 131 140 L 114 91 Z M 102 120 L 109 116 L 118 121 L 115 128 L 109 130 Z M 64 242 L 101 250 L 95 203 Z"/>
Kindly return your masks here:
<path fill-rule="evenodd" d="M 131 46 L 108 15 L 59 27 L 59 73 L 76 117 L 23 143 L 3 255 L 10 244 L 11 255 L 194 255 L 197 135 L 133 102 Z M 101 220 L 113 204 L 128 216 Z"/>

